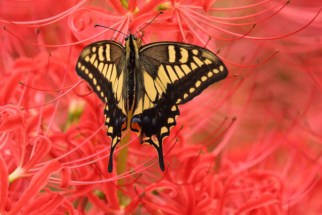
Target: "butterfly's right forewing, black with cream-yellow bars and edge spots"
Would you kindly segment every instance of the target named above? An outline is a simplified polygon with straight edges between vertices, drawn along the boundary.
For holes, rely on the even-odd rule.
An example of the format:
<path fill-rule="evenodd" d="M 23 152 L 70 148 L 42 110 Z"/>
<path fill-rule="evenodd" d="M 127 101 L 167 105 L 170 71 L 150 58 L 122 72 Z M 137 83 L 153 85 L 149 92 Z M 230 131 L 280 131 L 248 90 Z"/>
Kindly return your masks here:
<path fill-rule="evenodd" d="M 147 73 L 173 104 L 185 104 L 211 84 L 227 77 L 223 62 L 209 50 L 191 44 L 161 42 L 139 50 Z"/>

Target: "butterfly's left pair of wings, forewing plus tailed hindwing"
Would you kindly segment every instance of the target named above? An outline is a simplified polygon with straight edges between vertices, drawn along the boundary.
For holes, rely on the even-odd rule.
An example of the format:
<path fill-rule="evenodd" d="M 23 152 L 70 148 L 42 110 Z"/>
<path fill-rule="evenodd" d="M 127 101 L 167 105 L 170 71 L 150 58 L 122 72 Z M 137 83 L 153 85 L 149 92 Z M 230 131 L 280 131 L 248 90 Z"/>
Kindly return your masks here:
<path fill-rule="evenodd" d="M 105 102 L 105 125 L 107 135 L 111 138 L 109 172 L 113 170 L 113 152 L 128 122 L 127 71 L 124 66 L 124 48 L 108 40 L 85 47 L 76 65 L 77 74 Z"/>

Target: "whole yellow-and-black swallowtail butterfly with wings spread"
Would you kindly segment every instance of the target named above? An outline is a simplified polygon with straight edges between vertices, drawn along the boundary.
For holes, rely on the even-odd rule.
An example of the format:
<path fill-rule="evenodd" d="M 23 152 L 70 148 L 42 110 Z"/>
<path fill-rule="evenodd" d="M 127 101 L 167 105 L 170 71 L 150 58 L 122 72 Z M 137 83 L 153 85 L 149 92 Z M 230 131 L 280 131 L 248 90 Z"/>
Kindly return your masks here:
<path fill-rule="evenodd" d="M 178 105 L 228 75 L 216 54 L 200 46 L 179 42 L 141 46 L 138 42 L 130 33 L 125 46 L 109 40 L 92 43 L 81 52 L 76 65 L 77 74 L 105 103 L 105 125 L 111 138 L 109 172 L 113 152 L 128 126 L 141 144 L 156 149 L 164 171 L 162 144 L 176 125 Z"/>

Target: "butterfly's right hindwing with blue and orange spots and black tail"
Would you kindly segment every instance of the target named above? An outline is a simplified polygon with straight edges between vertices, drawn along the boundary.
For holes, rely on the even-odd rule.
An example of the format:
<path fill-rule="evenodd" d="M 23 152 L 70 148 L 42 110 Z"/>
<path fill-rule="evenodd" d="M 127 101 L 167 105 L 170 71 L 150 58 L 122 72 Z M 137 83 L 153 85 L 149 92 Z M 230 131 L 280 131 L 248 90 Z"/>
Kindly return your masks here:
<path fill-rule="evenodd" d="M 163 139 L 176 125 L 179 107 L 171 104 L 143 67 L 136 74 L 137 93 L 130 128 L 137 133 L 141 144 L 148 143 L 156 149 L 160 169 L 164 171 Z"/>

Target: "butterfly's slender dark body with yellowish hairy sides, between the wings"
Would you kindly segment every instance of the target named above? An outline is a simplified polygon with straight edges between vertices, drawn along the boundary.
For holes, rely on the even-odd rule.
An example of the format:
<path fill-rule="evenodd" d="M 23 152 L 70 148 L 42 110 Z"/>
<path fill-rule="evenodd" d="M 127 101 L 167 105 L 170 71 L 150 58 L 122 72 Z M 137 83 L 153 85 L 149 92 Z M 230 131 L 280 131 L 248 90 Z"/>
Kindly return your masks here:
<path fill-rule="evenodd" d="M 128 71 L 128 111 L 132 110 L 133 101 L 135 99 L 135 78 L 134 71 L 136 67 L 136 58 L 138 56 L 137 41 L 133 34 L 126 37 L 125 42 L 125 62 Z"/>

